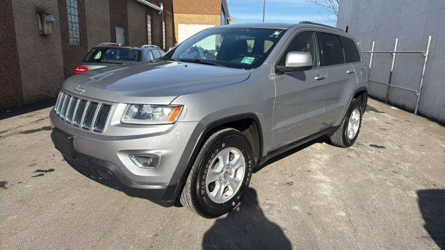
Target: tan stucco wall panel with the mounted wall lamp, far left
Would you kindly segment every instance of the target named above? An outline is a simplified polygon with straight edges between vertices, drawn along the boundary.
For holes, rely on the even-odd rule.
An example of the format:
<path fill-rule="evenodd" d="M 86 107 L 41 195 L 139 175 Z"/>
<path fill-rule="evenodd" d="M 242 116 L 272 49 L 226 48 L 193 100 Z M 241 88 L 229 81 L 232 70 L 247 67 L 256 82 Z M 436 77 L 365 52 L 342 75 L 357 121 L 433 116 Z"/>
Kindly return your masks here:
<path fill-rule="evenodd" d="M 37 8 L 56 17 L 52 35 L 39 35 Z M 13 12 L 24 104 L 56 98 L 64 81 L 57 0 L 13 1 Z"/>

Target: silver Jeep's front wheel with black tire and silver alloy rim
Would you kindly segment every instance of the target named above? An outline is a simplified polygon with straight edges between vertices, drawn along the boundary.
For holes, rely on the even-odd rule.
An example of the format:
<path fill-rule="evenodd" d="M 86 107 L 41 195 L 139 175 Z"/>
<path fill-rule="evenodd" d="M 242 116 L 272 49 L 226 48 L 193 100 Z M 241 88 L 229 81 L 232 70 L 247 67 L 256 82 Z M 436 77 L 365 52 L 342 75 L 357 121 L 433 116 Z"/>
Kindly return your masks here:
<path fill-rule="evenodd" d="M 253 162 L 252 148 L 243 133 L 234 128 L 214 133 L 197 155 L 179 201 L 206 218 L 228 213 L 249 186 Z"/>

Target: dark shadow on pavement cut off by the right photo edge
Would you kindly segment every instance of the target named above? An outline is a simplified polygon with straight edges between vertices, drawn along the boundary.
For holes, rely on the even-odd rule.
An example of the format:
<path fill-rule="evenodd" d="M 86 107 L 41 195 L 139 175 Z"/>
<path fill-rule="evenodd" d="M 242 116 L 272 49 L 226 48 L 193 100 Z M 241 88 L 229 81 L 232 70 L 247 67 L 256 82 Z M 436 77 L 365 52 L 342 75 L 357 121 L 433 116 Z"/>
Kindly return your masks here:
<path fill-rule="evenodd" d="M 425 229 L 437 246 L 445 249 L 445 190 L 417 190 Z"/>

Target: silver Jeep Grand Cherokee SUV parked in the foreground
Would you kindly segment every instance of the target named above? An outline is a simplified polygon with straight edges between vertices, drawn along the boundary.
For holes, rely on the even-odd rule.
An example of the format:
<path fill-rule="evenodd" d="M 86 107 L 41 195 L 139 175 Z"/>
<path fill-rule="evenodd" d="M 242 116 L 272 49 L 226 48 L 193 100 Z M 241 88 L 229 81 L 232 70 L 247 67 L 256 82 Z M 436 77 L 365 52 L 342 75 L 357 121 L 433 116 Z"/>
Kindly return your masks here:
<path fill-rule="evenodd" d="M 271 157 L 323 135 L 352 145 L 367 74 L 356 43 L 337 28 L 209 28 L 159 60 L 68 78 L 50 113 L 51 138 L 99 183 L 218 217 Z"/>

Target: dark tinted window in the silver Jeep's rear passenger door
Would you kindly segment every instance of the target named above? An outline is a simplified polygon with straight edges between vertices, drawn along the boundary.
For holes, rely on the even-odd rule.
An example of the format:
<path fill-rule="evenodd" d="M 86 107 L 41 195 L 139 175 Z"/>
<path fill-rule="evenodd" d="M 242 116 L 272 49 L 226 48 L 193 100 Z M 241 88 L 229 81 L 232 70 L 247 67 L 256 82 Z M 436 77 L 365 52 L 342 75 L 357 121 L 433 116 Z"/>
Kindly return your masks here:
<path fill-rule="evenodd" d="M 343 49 L 337 35 L 328 33 L 318 33 L 320 38 L 321 55 L 323 66 L 339 65 L 345 63 Z"/>

